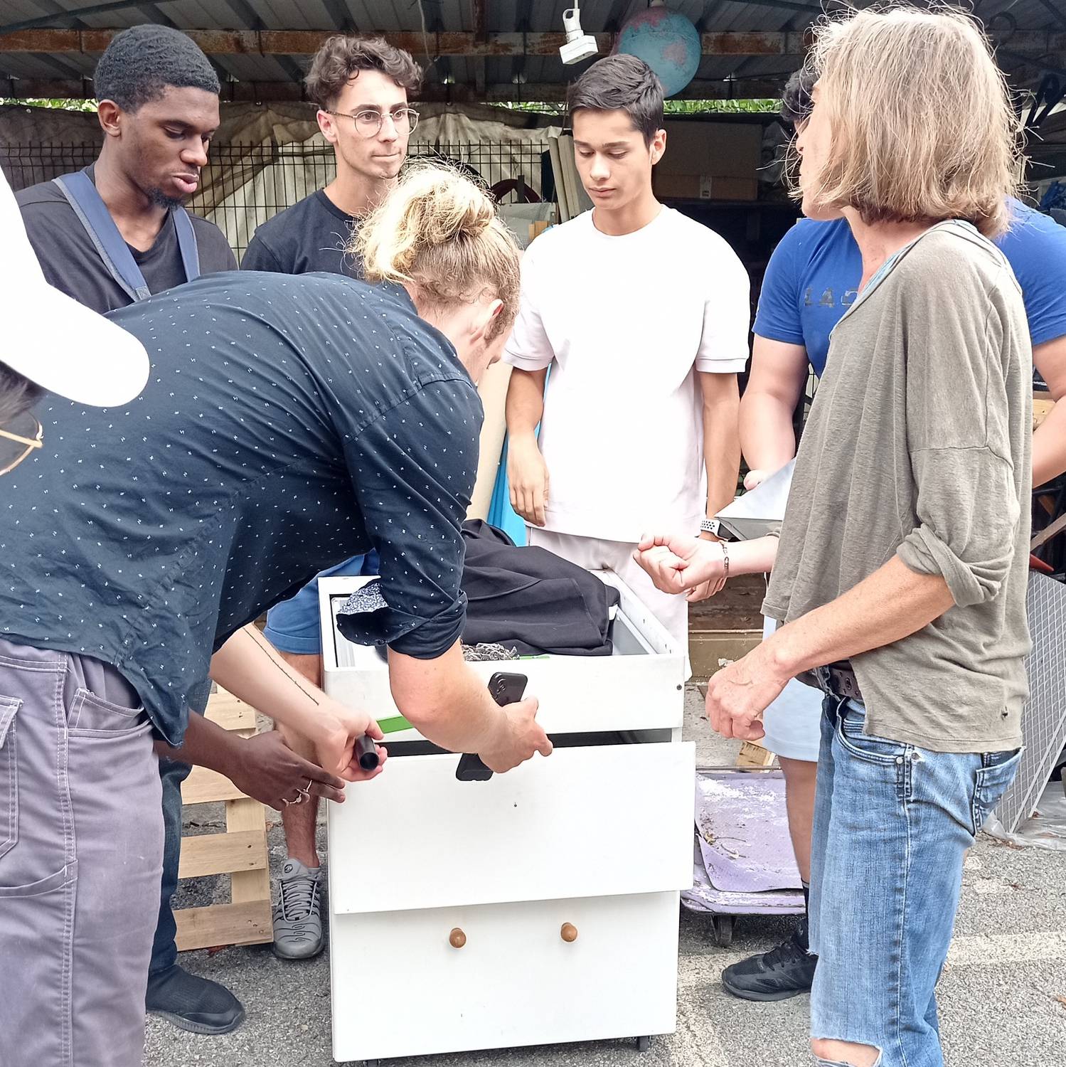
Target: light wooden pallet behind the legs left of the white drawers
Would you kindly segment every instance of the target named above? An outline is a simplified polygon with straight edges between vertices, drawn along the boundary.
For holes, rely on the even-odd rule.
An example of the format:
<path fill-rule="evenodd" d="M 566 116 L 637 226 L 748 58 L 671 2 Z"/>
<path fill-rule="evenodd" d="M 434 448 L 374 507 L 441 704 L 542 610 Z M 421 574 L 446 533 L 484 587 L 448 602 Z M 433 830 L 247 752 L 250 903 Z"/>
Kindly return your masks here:
<path fill-rule="evenodd" d="M 256 731 L 254 708 L 224 689 L 211 694 L 207 717 L 242 737 Z M 194 767 L 181 786 L 181 802 L 218 800 L 226 806 L 225 833 L 182 838 L 178 878 L 227 874 L 232 903 L 175 911 L 179 952 L 273 940 L 266 809 L 244 796 L 228 778 Z"/>

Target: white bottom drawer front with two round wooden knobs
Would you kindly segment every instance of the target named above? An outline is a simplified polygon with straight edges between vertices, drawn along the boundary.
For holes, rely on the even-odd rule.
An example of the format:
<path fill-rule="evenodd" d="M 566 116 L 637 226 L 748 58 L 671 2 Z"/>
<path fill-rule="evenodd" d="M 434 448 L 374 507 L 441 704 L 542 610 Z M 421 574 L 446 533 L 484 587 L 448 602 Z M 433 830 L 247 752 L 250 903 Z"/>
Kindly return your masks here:
<path fill-rule="evenodd" d="M 339 915 L 330 968 L 340 1062 L 672 1033 L 678 893 Z"/>

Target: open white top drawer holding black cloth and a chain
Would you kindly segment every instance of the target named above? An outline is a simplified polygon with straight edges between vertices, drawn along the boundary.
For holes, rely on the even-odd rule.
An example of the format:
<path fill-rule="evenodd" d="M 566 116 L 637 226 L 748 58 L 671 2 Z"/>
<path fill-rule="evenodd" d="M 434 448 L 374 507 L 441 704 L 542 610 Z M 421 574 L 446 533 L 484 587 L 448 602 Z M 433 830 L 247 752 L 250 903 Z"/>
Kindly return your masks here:
<path fill-rule="evenodd" d="M 685 655 L 630 589 L 610 571 L 598 576 L 618 589 L 611 626 L 614 655 L 550 655 L 473 663 L 486 684 L 496 671 L 528 678 L 526 694 L 540 700 L 538 721 L 550 734 L 680 730 L 684 712 Z M 367 577 L 319 579 L 323 688 L 351 707 L 372 712 L 388 740 L 420 734 L 400 715 L 388 686 L 388 668 L 375 648 L 347 640 L 337 609 Z"/>

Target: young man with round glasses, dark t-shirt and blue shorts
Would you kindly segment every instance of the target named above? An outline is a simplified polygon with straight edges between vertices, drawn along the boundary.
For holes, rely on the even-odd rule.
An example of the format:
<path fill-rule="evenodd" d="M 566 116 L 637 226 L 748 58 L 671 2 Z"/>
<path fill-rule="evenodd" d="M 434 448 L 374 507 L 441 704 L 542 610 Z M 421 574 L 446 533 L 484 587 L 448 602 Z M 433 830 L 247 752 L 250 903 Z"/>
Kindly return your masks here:
<path fill-rule="evenodd" d="M 418 113 L 408 93 L 421 68 L 401 49 L 379 38 L 329 37 L 312 61 L 307 95 L 318 105 L 318 125 L 333 145 L 337 175 L 261 225 L 252 238 L 244 270 L 363 276 L 359 258 L 345 251 L 362 216 L 396 181 L 407 157 L 408 136 Z M 377 573 L 375 553 L 348 559 L 325 573 Z M 313 684 L 322 684 L 318 578 L 267 615 L 265 636 L 285 660 Z M 291 748 L 307 752 L 301 738 L 286 734 Z M 318 798 L 282 812 L 286 857 L 274 903 L 274 954 L 282 959 L 317 956 L 325 944 L 322 869 L 315 839 Z"/>

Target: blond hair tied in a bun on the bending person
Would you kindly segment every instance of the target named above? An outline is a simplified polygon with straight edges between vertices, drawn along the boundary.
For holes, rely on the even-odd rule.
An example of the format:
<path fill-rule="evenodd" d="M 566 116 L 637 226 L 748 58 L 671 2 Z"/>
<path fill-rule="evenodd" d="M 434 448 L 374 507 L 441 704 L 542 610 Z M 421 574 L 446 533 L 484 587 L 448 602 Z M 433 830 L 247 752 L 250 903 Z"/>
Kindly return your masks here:
<path fill-rule="evenodd" d="M 510 329 L 519 307 L 518 242 L 496 205 L 458 169 L 419 160 L 360 226 L 352 251 L 368 282 L 413 284 L 441 308 L 488 293 L 504 303 L 491 337 Z"/>

